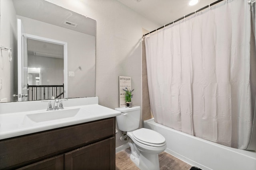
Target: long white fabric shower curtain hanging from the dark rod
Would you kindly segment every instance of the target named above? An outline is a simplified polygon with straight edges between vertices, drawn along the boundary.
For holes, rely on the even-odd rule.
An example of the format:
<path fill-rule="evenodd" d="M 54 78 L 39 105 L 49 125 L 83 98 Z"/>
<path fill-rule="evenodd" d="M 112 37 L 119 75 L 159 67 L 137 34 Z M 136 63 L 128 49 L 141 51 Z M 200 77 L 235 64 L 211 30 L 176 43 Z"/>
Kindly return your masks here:
<path fill-rule="evenodd" d="M 157 123 L 256 150 L 255 142 L 249 147 L 256 96 L 250 19 L 246 0 L 224 0 L 144 37 Z"/>

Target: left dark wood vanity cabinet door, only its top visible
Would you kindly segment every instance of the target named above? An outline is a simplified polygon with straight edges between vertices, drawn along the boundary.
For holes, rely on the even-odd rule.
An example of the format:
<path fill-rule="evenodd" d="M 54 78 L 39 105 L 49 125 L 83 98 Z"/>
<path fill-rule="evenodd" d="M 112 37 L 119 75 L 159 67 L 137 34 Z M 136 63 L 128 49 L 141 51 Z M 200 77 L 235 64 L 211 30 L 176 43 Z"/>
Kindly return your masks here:
<path fill-rule="evenodd" d="M 42 160 L 18 170 L 64 170 L 64 155 Z"/>

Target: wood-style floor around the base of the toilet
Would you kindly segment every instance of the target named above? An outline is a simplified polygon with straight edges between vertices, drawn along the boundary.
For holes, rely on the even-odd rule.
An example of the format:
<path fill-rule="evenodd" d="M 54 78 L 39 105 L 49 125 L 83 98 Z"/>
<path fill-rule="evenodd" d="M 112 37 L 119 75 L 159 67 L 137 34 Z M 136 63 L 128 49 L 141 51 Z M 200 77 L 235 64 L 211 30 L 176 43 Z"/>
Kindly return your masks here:
<path fill-rule="evenodd" d="M 130 149 L 116 153 L 116 170 L 139 170 L 130 160 Z M 166 153 L 159 154 L 160 170 L 190 170 L 191 166 L 182 160 Z"/>

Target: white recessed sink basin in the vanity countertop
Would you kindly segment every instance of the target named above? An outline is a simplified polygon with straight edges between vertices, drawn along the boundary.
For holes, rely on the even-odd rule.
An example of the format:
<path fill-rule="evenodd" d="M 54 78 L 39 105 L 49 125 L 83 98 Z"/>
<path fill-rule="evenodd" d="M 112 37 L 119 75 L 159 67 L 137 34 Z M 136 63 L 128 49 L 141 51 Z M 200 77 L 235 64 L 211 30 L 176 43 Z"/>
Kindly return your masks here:
<path fill-rule="evenodd" d="M 45 111 L 45 112 L 41 112 L 41 113 L 28 114 L 28 115 L 25 115 L 25 119 L 27 117 L 31 121 L 39 123 L 39 122 L 44 122 L 44 121 L 51 121 L 51 120 L 56 120 L 56 119 L 64 119 L 64 118 L 68 118 L 68 117 L 74 117 L 78 113 L 84 113 L 84 112 L 86 112 L 86 111 L 81 108 L 52 110 L 52 111 Z"/>

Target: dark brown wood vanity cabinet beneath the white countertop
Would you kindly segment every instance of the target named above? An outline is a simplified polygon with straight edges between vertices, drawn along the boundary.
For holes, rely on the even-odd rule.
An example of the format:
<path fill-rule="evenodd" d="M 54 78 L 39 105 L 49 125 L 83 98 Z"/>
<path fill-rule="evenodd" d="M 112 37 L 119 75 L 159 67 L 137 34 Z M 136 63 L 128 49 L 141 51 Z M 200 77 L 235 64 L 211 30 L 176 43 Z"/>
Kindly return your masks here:
<path fill-rule="evenodd" d="M 115 117 L 0 140 L 0 170 L 114 170 Z"/>

